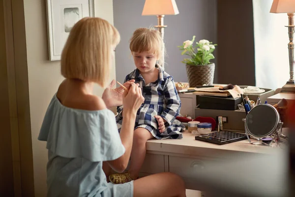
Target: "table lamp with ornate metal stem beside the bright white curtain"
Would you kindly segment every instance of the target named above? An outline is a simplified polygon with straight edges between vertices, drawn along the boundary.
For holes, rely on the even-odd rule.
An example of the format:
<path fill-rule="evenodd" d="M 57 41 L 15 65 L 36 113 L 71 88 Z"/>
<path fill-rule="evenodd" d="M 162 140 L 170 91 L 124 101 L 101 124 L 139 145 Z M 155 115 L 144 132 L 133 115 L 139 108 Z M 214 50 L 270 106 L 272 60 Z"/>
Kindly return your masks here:
<path fill-rule="evenodd" d="M 289 34 L 289 65 L 290 65 L 290 79 L 281 89 L 281 93 L 295 93 L 294 83 L 294 12 L 295 0 L 273 0 L 270 13 L 287 13 L 289 18 L 288 34 Z"/>

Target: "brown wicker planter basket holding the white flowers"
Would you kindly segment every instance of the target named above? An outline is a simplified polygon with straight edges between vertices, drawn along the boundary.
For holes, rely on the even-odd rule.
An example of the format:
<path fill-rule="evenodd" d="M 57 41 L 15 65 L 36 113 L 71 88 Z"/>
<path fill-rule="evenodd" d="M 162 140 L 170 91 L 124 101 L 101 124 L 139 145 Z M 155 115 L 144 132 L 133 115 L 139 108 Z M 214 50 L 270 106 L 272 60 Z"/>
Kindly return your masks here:
<path fill-rule="evenodd" d="M 212 85 L 214 79 L 214 63 L 205 66 L 186 65 L 189 87 Z"/>

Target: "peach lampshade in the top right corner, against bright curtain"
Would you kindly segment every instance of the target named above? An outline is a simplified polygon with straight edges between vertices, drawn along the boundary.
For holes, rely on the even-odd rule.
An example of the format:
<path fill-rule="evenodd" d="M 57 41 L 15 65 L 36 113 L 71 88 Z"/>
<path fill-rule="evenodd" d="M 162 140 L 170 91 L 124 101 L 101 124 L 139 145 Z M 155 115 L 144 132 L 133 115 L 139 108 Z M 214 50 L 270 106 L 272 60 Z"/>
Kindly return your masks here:
<path fill-rule="evenodd" d="M 290 13 L 295 12 L 295 0 L 273 0 L 271 13 Z"/>

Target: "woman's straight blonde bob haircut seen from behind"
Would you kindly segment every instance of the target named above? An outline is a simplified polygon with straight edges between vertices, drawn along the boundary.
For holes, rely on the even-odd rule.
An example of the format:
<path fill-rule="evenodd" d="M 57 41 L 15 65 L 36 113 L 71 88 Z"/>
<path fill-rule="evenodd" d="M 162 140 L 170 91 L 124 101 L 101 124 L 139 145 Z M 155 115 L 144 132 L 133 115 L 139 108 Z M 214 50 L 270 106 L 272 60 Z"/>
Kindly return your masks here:
<path fill-rule="evenodd" d="M 118 30 L 106 20 L 85 17 L 72 28 L 61 54 L 61 74 L 105 87 L 109 80 L 112 48 Z"/>

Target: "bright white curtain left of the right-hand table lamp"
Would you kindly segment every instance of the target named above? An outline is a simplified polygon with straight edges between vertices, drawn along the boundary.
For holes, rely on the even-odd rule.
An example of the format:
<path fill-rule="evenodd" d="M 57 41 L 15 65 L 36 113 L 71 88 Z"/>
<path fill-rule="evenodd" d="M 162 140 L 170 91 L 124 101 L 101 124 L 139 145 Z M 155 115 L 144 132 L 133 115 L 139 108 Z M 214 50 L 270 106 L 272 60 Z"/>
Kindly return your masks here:
<path fill-rule="evenodd" d="M 255 79 L 261 88 L 281 88 L 289 80 L 288 16 L 270 13 L 272 0 L 253 0 Z"/>

